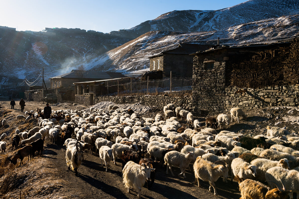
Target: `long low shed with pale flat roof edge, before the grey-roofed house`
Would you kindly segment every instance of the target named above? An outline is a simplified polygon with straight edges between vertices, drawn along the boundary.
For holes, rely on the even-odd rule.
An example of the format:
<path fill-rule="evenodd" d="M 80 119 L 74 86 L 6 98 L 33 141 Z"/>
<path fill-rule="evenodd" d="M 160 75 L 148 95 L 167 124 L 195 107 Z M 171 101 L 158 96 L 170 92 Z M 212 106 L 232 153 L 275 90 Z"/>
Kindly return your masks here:
<path fill-rule="evenodd" d="M 118 91 L 118 84 L 129 82 L 131 82 L 131 77 L 75 82 L 75 102 L 87 106 L 94 105 L 96 97 L 115 93 Z"/>

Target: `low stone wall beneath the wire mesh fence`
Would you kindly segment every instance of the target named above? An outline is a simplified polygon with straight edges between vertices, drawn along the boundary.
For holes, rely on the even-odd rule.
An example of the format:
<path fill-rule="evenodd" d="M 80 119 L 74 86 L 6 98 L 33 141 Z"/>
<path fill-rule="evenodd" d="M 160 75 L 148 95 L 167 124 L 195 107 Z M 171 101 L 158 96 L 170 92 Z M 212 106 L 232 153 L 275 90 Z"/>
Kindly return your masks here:
<path fill-rule="evenodd" d="M 77 95 L 76 95 L 77 97 Z M 116 104 L 134 104 L 141 103 L 142 105 L 150 106 L 153 108 L 163 109 L 169 103 L 175 104 L 176 107 L 191 111 L 192 109 L 192 97 L 172 97 L 163 95 L 134 95 L 134 96 L 100 96 L 96 97 L 95 103 L 102 101 L 111 101 Z M 77 102 L 77 100 L 76 100 Z"/>

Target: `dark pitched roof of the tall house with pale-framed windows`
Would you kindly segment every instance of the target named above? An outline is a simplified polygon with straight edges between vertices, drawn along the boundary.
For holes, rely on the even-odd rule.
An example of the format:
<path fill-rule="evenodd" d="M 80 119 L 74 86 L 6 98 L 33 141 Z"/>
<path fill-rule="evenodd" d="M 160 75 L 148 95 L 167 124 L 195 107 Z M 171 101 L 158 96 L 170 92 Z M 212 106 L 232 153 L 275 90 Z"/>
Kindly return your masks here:
<path fill-rule="evenodd" d="M 163 51 L 158 55 L 162 54 L 179 54 L 179 55 L 190 55 L 192 53 L 198 52 L 198 51 L 205 51 L 212 47 L 212 45 L 202 45 L 202 44 L 190 44 L 190 43 L 179 43 L 178 47 Z M 151 56 L 156 57 L 158 55 Z"/>

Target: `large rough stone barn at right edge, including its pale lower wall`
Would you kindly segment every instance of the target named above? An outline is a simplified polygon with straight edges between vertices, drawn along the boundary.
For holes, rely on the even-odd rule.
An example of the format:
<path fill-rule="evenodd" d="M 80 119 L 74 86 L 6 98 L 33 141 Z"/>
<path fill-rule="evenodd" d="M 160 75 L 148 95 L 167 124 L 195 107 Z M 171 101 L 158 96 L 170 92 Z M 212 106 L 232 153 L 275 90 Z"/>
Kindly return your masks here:
<path fill-rule="evenodd" d="M 232 107 L 298 106 L 299 39 L 222 46 L 193 58 L 192 110 L 213 115 Z"/>

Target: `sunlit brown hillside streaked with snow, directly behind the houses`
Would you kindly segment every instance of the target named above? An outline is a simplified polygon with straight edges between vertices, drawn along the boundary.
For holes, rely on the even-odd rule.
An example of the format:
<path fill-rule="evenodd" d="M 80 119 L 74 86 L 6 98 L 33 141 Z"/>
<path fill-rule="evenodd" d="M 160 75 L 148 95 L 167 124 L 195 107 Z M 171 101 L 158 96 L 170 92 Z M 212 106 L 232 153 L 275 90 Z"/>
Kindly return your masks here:
<path fill-rule="evenodd" d="M 149 70 L 149 58 L 162 51 L 175 48 L 178 43 L 220 43 L 245 45 L 272 43 L 299 36 L 299 15 L 292 15 L 242 24 L 213 32 L 152 31 L 112 49 L 92 60 L 92 70 L 138 73 Z"/>

